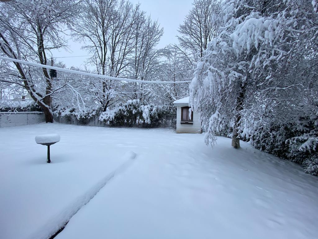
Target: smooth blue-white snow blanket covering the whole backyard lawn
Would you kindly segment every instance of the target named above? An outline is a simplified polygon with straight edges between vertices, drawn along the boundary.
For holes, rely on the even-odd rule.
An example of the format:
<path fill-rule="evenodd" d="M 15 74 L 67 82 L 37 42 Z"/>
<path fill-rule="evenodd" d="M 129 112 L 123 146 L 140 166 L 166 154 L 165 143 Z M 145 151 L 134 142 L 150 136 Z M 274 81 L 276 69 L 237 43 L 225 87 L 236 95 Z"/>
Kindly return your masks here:
<path fill-rule="evenodd" d="M 34 141 L 47 133 L 61 136 L 51 164 Z M 70 217 L 57 239 L 318 236 L 318 177 L 248 143 L 57 123 L 0 135 L 0 238 L 47 238 Z"/>

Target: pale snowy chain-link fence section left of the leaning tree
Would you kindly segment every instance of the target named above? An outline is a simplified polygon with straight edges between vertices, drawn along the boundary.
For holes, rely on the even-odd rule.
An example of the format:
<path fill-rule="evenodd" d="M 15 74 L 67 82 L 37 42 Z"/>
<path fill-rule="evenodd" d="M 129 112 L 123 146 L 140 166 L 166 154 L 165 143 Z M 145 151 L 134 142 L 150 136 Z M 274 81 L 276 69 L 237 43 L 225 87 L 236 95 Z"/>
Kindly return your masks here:
<path fill-rule="evenodd" d="M 31 125 L 45 122 L 43 112 L 0 112 L 0 127 Z"/>

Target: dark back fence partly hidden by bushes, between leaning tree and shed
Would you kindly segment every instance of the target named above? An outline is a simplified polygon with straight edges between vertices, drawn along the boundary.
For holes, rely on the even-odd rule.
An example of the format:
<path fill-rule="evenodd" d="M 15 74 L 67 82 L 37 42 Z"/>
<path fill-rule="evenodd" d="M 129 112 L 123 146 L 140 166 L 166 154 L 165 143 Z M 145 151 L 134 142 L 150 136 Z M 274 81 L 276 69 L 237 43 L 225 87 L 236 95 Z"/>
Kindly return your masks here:
<path fill-rule="evenodd" d="M 98 118 L 99 118 L 98 116 L 95 116 L 89 119 L 87 118 L 77 119 L 76 116 L 74 115 L 68 115 L 63 117 L 56 116 L 56 115 L 54 116 L 54 120 L 62 124 L 109 127 L 105 122 L 98 120 Z M 149 127 L 149 125 L 143 125 L 139 123 L 132 127 L 147 128 Z M 152 128 L 176 128 L 176 115 L 165 115 L 161 117 L 156 123 L 156 126 Z"/>

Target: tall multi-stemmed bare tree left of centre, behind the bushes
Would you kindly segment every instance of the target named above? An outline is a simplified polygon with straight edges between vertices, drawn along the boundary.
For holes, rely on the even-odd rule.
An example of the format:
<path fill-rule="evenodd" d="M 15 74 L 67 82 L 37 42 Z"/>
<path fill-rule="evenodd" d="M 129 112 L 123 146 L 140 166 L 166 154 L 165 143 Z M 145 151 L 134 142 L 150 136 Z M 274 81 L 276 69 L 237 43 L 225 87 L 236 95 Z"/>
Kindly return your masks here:
<path fill-rule="evenodd" d="M 73 23 L 73 37 L 84 43 L 93 56 L 89 63 L 101 75 L 120 76 L 127 69 L 133 47 L 133 25 L 142 15 L 139 4 L 133 7 L 128 1 L 86 0 L 82 12 Z M 115 91 L 121 83 L 94 80 L 93 91 L 103 111 L 120 96 Z M 100 88 L 99 88 L 100 87 Z"/>

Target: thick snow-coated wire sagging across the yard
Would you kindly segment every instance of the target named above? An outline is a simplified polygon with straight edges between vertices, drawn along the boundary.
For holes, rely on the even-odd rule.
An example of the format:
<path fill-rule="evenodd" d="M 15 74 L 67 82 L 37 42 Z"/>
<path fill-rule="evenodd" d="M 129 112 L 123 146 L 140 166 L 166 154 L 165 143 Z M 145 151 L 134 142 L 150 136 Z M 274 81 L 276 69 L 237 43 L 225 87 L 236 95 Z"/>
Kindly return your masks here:
<path fill-rule="evenodd" d="M 42 67 L 42 68 L 47 68 L 47 69 L 59 70 L 59 71 L 72 73 L 72 74 L 92 76 L 92 77 L 104 78 L 104 79 L 116 80 L 116 81 L 138 82 L 138 83 L 152 83 L 152 84 L 172 84 L 172 83 L 188 83 L 188 82 L 191 82 L 191 81 L 143 81 L 143 80 L 135 80 L 135 79 L 127 79 L 127 78 L 118 78 L 118 77 L 113 77 L 113 76 L 105 76 L 105 75 L 87 73 L 87 72 L 84 72 L 84 71 L 63 69 L 63 68 L 59 68 L 59 67 L 55 67 L 55 66 L 48 66 L 48 65 L 38 64 L 38 63 L 34 63 L 34 62 L 27 62 L 27 61 L 17 60 L 17 59 L 13 59 L 13 58 L 9 58 L 9 57 L 3 57 L 3 56 L 0 56 L 0 59 L 6 60 L 6 61 L 12 61 L 12 62 L 19 62 L 21 64 L 30 65 L 30 66 L 36 66 L 36 67 Z"/>

